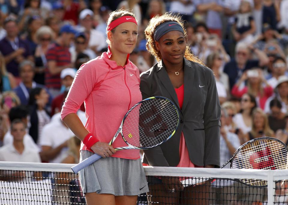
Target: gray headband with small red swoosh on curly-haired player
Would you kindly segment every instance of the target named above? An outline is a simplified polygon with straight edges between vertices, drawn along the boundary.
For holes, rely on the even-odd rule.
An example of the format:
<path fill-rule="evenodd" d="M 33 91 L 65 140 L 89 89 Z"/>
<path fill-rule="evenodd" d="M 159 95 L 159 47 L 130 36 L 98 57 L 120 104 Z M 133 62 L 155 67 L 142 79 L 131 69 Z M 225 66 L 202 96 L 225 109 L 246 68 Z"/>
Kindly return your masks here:
<path fill-rule="evenodd" d="M 176 21 L 167 21 L 158 27 L 154 31 L 154 40 L 158 41 L 164 34 L 170 31 L 180 31 L 184 34 L 182 26 Z"/>

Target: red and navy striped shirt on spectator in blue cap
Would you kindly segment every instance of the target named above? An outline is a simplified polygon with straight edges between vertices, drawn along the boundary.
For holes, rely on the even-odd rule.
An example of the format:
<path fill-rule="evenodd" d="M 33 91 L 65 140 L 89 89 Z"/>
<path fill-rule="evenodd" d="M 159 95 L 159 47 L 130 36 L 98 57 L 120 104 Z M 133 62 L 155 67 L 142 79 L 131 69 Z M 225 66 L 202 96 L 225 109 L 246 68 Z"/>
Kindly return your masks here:
<path fill-rule="evenodd" d="M 56 66 L 66 66 L 71 63 L 71 54 L 69 48 L 63 47 L 57 43 L 54 43 L 46 54 L 47 62 L 56 61 Z M 61 78 L 60 73 L 52 75 L 49 68 L 45 70 L 45 85 L 47 88 L 60 89 Z"/>

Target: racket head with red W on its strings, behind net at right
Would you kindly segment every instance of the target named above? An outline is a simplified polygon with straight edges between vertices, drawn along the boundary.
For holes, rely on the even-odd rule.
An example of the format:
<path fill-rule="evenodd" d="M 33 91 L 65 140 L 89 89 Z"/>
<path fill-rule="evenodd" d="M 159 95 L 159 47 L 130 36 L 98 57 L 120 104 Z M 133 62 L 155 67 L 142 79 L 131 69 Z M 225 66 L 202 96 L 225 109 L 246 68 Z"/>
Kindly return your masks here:
<path fill-rule="evenodd" d="M 230 163 L 232 169 L 287 169 L 287 146 L 272 137 L 252 139 L 242 145 L 233 155 Z M 250 186 L 267 186 L 266 180 L 240 179 Z"/>

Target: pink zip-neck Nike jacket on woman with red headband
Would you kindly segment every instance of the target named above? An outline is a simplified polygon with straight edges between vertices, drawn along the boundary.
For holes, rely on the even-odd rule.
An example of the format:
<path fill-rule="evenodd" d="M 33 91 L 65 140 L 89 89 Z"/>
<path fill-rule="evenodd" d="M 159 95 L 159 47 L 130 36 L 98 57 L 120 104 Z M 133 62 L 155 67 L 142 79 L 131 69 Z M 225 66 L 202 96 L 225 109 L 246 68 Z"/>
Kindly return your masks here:
<path fill-rule="evenodd" d="M 84 101 L 86 129 L 107 143 L 117 132 L 125 113 L 142 100 L 138 68 L 129 60 L 124 67 L 117 66 L 110 57 L 110 51 L 104 52 L 81 66 L 61 111 L 63 120 L 68 114 L 76 113 Z M 127 146 L 121 135 L 112 145 Z M 82 142 L 81 150 L 88 150 Z M 135 160 L 140 155 L 139 150 L 120 150 L 112 157 Z"/>

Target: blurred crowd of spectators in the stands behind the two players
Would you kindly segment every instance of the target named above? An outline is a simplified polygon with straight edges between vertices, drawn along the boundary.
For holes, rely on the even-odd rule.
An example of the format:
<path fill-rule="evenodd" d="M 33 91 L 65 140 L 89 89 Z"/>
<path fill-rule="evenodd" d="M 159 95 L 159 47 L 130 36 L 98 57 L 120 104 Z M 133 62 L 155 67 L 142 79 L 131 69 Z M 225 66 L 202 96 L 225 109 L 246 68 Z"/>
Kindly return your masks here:
<path fill-rule="evenodd" d="M 288 0 L 0 0 L 0 7 L 1 161 L 79 162 L 80 141 L 59 112 L 77 69 L 107 51 L 106 21 L 120 8 L 138 20 L 130 60 L 140 73 L 157 63 L 146 50 L 149 19 L 182 16 L 193 54 L 215 74 L 221 164 L 249 139 L 288 143 Z M 83 123 L 84 111 L 83 104 Z"/>

